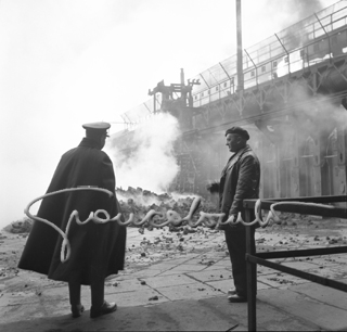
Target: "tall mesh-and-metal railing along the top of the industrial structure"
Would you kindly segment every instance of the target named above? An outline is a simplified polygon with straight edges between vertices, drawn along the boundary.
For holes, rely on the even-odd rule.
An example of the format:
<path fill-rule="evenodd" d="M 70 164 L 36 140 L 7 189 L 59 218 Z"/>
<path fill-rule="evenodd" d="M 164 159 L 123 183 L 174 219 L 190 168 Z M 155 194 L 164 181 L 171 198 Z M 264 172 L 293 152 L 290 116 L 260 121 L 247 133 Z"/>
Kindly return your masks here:
<path fill-rule="evenodd" d="M 332 38 L 336 40 L 332 40 Z M 243 55 L 244 88 L 252 88 L 277 77 L 301 71 L 334 58 L 332 46 L 337 43 L 342 55 L 347 54 L 347 2 L 339 1 L 311 16 L 247 48 Z M 338 56 L 338 55 L 336 55 Z M 236 55 L 232 55 L 192 77 L 194 107 L 206 105 L 235 93 L 237 86 Z M 160 104 L 160 93 L 154 98 Z M 126 123 L 145 122 L 155 113 L 153 100 L 123 114 Z"/>

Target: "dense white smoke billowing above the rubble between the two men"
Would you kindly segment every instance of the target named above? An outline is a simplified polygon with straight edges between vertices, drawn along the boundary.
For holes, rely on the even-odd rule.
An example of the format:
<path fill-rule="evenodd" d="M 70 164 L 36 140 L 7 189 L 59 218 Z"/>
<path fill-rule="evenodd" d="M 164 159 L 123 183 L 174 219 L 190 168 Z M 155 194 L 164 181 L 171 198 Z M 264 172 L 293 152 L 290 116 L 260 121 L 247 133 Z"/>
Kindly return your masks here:
<path fill-rule="evenodd" d="M 177 118 L 168 113 L 157 114 L 130 135 L 128 143 L 132 149 L 127 151 L 117 138 L 106 146 L 111 150 L 116 186 L 140 187 L 156 193 L 167 191 L 179 171 L 174 155 L 174 143 L 180 135 Z"/>

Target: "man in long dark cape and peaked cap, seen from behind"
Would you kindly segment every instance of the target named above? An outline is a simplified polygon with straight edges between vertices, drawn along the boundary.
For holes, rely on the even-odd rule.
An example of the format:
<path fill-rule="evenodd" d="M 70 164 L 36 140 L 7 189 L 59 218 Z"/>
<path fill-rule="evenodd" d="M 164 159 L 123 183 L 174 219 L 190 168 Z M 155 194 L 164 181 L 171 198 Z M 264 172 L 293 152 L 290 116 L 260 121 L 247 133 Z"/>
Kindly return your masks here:
<path fill-rule="evenodd" d="M 62 156 L 47 193 L 69 188 L 98 187 L 115 194 L 113 164 L 107 154 L 101 151 L 111 125 L 93 123 L 82 127 L 86 129 L 86 138 Z M 75 209 L 81 221 L 98 209 L 106 210 L 111 218 L 121 213 L 115 195 L 110 197 L 100 191 L 79 190 L 44 197 L 37 216 L 65 231 Z M 91 318 L 115 311 L 117 305 L 104 299 L 104 280 L 124 269 L 126 228 L 116 221 L 97 224 L 90 220 L 78 225 L 73 219 L 68 240 L 70 256 L 62 263 L 62 237 L 51 226 L 35 221 L 18 268 L 67 282 L 74 318 L 79 317 L 85 309 L 80 302 L 81 284 L 90 285 L 91 289 Z"/>

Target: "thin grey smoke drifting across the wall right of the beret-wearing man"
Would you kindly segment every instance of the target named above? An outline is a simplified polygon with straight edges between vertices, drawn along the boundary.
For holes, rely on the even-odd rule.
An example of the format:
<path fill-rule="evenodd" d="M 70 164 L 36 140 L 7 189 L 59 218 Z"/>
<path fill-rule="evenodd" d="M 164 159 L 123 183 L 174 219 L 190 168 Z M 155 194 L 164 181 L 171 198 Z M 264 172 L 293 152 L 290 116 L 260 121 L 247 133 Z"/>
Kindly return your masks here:
<path fill-rule="evenodd" d="M 324 94 L 312 95 L 300 84 L 292 86 L 291 94 L 284 116 L 259 122 L 257 125 L 261 132 L 248 128 L 252 131 L 250 142 L 260 159 L 277 158 L 275 154 L 269 155 L 270 145 L 267 142 L 272 143 L 273 149 L 274 146 L 280 149 L 285 157 L 296 157 L 303 153 L 307 154 L 309 149 L 307 144 L 312 140 L 321 142 L 320 149 L 323 157 L 327 153 L 330 138 L 337 139 L 337 130 L 343 132 L 347 128 L 347 112 L 340 104 L 340 98 L 334 99 Z M 265 137 L 269 141 L 264 141 Z M 265 150 L 268 151 L 267 156 L 262 155 L 265 151 L 261 149 L 261 141 L 264 141 Z"/>

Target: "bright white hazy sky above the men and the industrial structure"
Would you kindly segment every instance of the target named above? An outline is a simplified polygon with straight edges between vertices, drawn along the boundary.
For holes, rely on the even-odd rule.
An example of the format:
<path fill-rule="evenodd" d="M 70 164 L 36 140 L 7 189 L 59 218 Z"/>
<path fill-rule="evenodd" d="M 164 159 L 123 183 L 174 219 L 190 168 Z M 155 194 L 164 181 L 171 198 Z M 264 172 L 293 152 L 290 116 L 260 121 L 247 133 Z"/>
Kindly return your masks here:
<path fill-rule="evenodd" d="M 243 46 L 335 2 L 242 0 Z M 124 129 L 158 81 L 234 55 L 235 27 L 235 0 L 1 0 L 0 229 L 44 194 L 82 124 Z"/>

